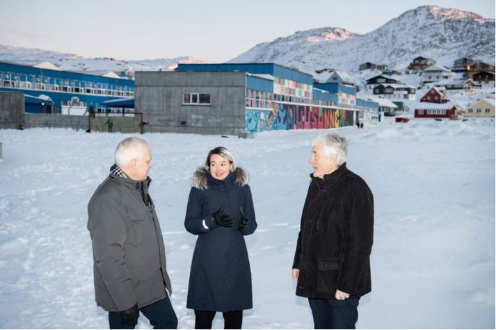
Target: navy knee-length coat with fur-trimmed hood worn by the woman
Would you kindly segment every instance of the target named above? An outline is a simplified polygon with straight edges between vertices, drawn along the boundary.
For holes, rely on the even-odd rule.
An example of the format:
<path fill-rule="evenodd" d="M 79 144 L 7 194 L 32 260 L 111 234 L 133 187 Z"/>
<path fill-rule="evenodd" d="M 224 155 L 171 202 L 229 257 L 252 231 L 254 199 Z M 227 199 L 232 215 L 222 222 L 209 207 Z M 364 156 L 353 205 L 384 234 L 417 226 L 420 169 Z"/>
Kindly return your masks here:
<path fill-rule="evenodd" d="M 240 311 L 253 308 L 251 271 L 244 236 L 257 229 L 248 176 L 240 167 L 224 180 L 214 179 L 200 169 L 191 180 L 184 226 L 198 235 L 186 308 L 197 311 Z M 216 226 L 212 213 L 221 206 L 231 215 L 231 227 Z M 242 231 L 237 229 L 243 206 L 250 220 Z M 205 229 L 203 221 L 209 227 Z"/>

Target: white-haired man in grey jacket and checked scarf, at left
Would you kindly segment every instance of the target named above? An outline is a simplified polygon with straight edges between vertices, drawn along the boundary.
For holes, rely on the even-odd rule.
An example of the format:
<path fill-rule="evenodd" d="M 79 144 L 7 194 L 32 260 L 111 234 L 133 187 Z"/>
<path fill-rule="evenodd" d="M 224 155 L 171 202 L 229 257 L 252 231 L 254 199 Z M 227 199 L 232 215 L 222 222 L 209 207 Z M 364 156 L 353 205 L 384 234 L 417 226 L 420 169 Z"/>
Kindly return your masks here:
<path fill-rule="evenodd" d="M 88 204 L 95 298 L 111 329 L 134 329 L 139 312 L 155 329 L 176 329 L 177 317 L 159 220 L 148 176 L 152 153 L 141 138 L 115 149 L 115 164 Z"/>

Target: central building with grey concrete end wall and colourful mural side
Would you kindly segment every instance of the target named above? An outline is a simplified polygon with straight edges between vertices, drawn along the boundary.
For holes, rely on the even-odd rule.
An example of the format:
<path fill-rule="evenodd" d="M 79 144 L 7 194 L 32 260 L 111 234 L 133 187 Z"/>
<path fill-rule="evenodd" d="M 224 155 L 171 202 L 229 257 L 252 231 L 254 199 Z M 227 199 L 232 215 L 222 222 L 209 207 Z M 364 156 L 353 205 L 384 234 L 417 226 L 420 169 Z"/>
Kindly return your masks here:
<path fill-rule="evenodd" d="M 135 86 L 136 111 L 155 132 L 327 129 L 353 125 L 360 111 L 354 88 L 314 84 L 312 75 L 273 63 L 179 64 L 177 72 L 136 72 Z"/>

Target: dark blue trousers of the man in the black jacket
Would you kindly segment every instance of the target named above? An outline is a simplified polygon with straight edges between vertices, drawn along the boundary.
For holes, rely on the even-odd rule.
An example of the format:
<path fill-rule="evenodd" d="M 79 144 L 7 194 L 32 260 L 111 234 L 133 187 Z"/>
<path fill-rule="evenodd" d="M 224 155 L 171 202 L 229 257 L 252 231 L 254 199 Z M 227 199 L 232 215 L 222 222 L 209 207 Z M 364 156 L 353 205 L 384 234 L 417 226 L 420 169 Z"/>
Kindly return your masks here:
<path fill-rule="evenodd" d="M 360 297 L 344 300 L 308 299 L 314 317 L 314 329 L 355 329 Z"/>

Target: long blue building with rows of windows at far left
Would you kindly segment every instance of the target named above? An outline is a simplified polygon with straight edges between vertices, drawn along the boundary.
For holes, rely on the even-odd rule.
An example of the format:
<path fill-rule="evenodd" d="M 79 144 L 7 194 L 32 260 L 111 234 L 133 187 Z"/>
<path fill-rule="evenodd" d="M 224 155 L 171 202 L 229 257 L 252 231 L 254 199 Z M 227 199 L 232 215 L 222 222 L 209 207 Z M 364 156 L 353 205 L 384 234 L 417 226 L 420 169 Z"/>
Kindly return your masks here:
<path fill-rule="evenodd" d="M 0 62 L 0 91 L 25 95 L 26 113 L 83 115 L 104 112 L 104 102 L 134 97 L 134 81 Z"/>

